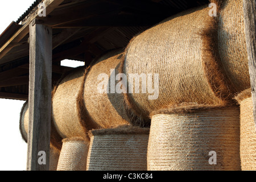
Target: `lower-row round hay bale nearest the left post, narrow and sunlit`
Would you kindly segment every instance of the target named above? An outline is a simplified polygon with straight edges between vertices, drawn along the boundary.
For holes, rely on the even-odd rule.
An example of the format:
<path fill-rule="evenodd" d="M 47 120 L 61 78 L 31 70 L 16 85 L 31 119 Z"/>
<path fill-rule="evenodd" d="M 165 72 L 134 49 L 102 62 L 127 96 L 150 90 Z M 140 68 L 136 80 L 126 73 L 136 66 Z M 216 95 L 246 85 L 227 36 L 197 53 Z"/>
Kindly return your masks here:
<path fill-rule="evenodd" d="M 89 142 L 83 138 L 63 139 L 57 171 L 86 171 Z"/>

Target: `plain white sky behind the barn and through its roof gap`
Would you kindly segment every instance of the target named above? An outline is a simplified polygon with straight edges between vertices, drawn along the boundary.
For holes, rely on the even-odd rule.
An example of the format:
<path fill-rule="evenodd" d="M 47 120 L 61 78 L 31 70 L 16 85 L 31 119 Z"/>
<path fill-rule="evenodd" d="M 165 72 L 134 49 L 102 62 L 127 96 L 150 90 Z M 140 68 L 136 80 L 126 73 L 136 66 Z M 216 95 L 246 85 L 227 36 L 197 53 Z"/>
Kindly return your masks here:
<path fill-rule="evenodd" d="M 34 0 L 0 1 L 0 34 L 16 21 L 32 5 Z M 77 67 L 81 62 L 65 64 Z M 1 78 L 0 78 L 1 80 Z M 0 99 L 0 171 L 22 171 L 26 169 L 27 143 L 19 131 L 19 114 L 24 101 Z"/>

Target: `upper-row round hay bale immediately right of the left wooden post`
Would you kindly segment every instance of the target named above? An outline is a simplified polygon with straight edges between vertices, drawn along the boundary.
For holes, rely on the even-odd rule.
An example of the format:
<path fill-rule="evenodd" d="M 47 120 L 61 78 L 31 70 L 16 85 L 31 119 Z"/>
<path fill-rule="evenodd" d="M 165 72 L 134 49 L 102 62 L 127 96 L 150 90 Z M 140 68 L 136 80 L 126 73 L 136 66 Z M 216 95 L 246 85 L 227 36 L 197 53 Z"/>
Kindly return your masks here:
<path fill-rule="evenodd" d="M 84 123 L 80 121 L 77 97 L 82 85 L 84 67 L 73 69 L 65 75 L 52 96 L 52 120 L 61 138 L 86 138 Z"/>

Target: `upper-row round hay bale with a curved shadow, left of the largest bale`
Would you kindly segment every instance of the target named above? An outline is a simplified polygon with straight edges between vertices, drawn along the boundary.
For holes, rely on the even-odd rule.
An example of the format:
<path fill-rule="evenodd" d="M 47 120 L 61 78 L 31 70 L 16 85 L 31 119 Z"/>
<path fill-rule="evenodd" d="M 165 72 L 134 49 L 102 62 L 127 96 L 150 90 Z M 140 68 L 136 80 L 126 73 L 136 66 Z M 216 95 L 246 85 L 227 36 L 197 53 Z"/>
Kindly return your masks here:
<path fill-rule="evenodd" d="M 118 49 L 100 57 L 84 75 L 78 100 L 81 121 L 88 130 L 128 125 L 131 119 L 135 120 L 126 109 L 123 94 L 115 90 L 122 53 Z"/>

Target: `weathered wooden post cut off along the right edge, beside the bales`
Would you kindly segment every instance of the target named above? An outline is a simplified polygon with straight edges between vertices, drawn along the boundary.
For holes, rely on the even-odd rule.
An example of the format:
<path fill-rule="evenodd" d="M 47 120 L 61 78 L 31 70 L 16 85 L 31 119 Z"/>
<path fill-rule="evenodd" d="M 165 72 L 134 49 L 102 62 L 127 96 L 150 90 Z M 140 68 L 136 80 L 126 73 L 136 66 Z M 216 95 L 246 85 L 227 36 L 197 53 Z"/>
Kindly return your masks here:
<path fill-rule="evenodd" d="M 245 35 L 249 60 L 251 97 L 253 99 L 253 114 L 256 126 L 256 0 L 243 0 L 243 12 L 245 16 Z"/>

